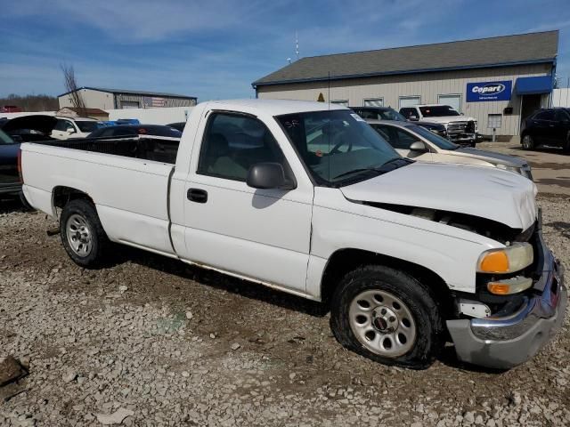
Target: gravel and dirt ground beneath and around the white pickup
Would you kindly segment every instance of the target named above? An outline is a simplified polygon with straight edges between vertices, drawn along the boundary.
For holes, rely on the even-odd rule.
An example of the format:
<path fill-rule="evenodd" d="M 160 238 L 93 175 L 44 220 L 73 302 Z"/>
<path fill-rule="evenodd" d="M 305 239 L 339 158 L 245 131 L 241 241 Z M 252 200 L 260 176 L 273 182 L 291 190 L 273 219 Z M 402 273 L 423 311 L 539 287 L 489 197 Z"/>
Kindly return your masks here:
<path fill-rule="evenodd" d="M 570 424 L 569 321 L 521 367 L 425 371 L 344 350 L 319 304 L 121 248 L 82 270 L 44 214 L 0 205 L 0 357 L 28 367 L 0 387 L 0 425 Z M 540 197 L 570 268 L 570 199 Z M 112 415 L 112 416 L 108 416 Z"/>

